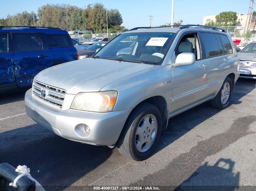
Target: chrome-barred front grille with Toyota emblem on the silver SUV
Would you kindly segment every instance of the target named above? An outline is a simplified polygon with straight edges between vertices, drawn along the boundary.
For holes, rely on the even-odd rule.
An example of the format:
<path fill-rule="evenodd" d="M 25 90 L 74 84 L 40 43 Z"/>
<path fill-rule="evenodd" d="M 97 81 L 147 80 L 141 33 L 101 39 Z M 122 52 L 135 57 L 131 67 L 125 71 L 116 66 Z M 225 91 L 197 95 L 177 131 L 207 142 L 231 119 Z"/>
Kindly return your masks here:
<path fill-rule="evenodd" d="M 65 98 L 65 95 L 66 95 L 66 91 L 61 88 L 56 88 L 39 81 L 34 81 L 33 83 L 32 96 L 36 100 L 44 103 L 45 105 L 53 107 L 55 109 L 62 110 L 62 104 Z"/>

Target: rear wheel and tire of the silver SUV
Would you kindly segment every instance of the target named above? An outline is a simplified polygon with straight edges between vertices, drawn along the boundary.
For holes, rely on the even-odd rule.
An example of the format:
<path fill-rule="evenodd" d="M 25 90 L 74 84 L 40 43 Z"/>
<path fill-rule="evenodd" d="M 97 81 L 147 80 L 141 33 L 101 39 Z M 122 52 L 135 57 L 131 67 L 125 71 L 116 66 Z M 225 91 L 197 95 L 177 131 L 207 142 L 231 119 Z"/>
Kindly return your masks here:
<path fill-rule="evenodd" d="M 227 77 L 221 86 L 217 96 L 211 100 L 211 106 L 218 109 L 225 109 L 228 107 L 233 92 L 232 80 Z"/>

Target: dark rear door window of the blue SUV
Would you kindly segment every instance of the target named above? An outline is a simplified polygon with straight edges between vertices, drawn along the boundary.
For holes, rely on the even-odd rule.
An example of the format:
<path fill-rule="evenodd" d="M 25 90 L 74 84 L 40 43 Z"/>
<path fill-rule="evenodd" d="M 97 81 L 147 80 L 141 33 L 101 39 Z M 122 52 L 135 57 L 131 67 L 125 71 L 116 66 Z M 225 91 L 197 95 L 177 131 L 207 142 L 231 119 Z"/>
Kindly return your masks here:
<path fill-rule="evenodd" d="M 42 41 L 36 33 L 15 33 L 14 51 L 42 50 Z"/>

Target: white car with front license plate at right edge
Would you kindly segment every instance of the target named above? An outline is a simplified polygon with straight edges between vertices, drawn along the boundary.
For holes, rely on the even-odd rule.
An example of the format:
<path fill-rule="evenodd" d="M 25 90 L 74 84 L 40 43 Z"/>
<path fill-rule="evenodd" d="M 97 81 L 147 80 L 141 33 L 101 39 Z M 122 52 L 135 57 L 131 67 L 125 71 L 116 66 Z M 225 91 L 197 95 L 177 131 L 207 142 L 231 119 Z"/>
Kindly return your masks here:
<path fill-rule="evenodd" d="M 240 78 L 256 79 L 256 41 L 245 46 L 237 56 L 240 59 Z"/>

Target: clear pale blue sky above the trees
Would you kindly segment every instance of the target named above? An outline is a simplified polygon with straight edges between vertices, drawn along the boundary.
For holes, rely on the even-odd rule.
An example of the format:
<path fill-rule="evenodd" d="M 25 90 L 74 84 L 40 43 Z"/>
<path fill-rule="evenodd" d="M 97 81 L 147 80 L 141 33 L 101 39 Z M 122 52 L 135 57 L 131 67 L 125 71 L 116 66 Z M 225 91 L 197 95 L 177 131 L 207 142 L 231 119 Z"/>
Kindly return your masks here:
<path fill-rule="evenodd" d="M 175 0 L 174 22 L 182 20 L 182 24 L 203 24 L 205 15 L 217 15 L 222 11 L 235 11 L 247 14 L 250 0 Z M 69 4 L 84 8 L 96 2 L 104 4 L 105 0 L 0 0 L 0 18 L 22 11 L 34 11 L 42 5 Z M 116 8 L 122 15 L 123 24 L 128 29 L 150 26 L 149 15 L 152 15 L 151 26 L 171 23 L 172 0 L 107 0 L 107 8 Z"/>

